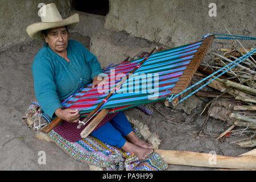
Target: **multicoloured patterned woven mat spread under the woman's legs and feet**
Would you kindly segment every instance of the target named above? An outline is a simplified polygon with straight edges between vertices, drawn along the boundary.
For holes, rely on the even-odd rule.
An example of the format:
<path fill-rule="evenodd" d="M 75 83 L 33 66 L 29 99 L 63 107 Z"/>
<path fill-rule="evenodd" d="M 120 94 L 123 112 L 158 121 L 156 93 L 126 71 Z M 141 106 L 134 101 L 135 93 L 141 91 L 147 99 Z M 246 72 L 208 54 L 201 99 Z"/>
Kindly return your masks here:
<path fill-rule="evenodd" d="M 135 133 L 143 139 L 139 130 L 132 124 Z M 103 143 L 94 137 L 86 137 L 69 142 L 60 134 L 51 131 L 48 136 L 74 159 L 108 171 L 163 171 L 168 167 L 158 154 L 152 152 L 144 160 L 139 160 L 137 156 L 129 152 Z"/>

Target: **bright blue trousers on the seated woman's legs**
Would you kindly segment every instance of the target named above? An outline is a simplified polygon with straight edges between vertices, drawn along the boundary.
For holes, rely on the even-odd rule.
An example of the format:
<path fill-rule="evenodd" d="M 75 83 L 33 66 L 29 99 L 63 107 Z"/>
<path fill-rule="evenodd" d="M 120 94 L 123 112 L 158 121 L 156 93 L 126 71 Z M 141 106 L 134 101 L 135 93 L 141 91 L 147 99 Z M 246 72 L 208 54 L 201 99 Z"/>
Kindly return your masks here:
<path fill-rule="evenodd" d="M 133 129 L 131 128 L 130 122 L 125 114 L 122 111 L 119 111 L 112 120 L 96 131 L 93 131 L 90 135 L 110 146 L 122 148 L 126 142 L 123 137 L 126 137 L 131 131 L 133 131 Z"/>

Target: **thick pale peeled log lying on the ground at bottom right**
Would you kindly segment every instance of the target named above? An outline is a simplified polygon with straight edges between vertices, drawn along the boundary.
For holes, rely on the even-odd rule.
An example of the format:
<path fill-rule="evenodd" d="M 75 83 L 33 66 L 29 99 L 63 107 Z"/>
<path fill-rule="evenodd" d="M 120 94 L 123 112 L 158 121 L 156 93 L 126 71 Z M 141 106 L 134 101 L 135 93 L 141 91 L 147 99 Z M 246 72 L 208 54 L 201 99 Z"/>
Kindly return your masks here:
<path fill-rule="evenodd" d="M 232 157 L 172 150 L 155 150 L 155 152 L 167 164 L 227 169 L 256 169 L 255 156 Z"/>

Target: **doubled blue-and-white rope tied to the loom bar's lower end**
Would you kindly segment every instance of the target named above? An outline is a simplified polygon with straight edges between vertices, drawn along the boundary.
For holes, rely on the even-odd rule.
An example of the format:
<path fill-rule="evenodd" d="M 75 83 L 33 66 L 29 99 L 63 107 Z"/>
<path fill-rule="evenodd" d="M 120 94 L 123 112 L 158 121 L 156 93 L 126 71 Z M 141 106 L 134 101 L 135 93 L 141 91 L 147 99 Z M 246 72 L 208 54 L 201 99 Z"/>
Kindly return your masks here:
<path fill-rule="evenodd" d="M 191 97 L 193 94 L 195 94 L 196 92 L 198 92 L 199 90 L 201 90 L 202 88 L 204 88 L 205 86 L 207 86 L 210 82 L 216 80 L 218 77 L 224 75 L 226 72 L 228 72 L 230 69 L 236 67 L 236 65 L 240 64 L 242 61 L 246 60 L 247 58 L 249 58 L 251 55 L 253 55 L 254 53 L 256 52 L 256 48 L 253 49 L 252 51 L 248 52 L 246 55 L 243 55 L 242 57 L 240 57 L 239 59 L 237 60 L 234 60 L 232 63 L 229 63 L 228 65 L 226 65 L 225 67 L 219 69 L 218 71 L 212 73 L 211 75 L 205 77 L 203 80 L 200 80 L 199 82 L 196 82 L 196 84 L 193 84 L 192 86 L 189 86 L 189 88 L 183 90 L 183 92 L 179 93 L 179 94 L 176 94 L 175 96 L 171 96 L 170 98 L 168 98 L 169 102 L 172 102 L 174 101 L 175 98 L 181 96 L 182 94 L 184 94 L 185 92 L 187 92 L 188 90 L 194 88 L 195 86 L 201 84 L 203 81 L 205 80 L 208 80 L 208 78 L 216 75 L 217 73 L 221 72 L 222 70 L 226 69 L 224 72 L 220 73 L 220 75 L 212 78 L 212 80 L 209 80 L 207 83 L 205 83 L 204 85 L 200 86 L 198 89 L 196 89 L 195 91 L 193 91 L 192 93 L 188 94 L 188 96 L 184 97 L 183 99 L 181 99 L 179 101 L 179 104 L 181 102 L 183 102 L 184 100 L 186 100 L 187 98 Z"/>

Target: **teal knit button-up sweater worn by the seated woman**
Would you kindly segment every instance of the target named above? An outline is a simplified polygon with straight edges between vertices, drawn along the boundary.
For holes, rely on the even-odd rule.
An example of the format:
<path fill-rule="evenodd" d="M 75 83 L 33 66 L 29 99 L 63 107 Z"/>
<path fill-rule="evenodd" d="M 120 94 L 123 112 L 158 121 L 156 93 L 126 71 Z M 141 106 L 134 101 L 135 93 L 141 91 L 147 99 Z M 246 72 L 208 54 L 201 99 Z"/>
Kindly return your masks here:
<path fill-rule="evenodd" d="M 51 118 L 55 110 L 62 107 L 61 100 L 92 82 L 92 78 L 101 73 L 96 56 L 81 43 L 68 40 L 67 52 L 69 63 L 45 45 L 32 64 L 36 100 Z"/>

